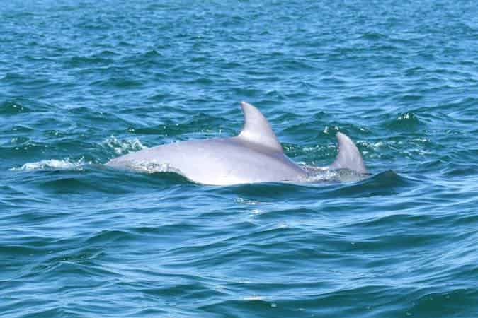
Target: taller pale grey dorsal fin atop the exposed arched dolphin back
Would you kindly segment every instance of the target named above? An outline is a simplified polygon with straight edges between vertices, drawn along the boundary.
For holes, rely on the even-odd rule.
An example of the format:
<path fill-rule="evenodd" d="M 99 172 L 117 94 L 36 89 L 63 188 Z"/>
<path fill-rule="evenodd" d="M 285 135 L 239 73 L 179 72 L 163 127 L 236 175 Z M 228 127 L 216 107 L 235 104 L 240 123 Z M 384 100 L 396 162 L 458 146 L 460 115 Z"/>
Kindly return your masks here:
<path fill-rule="evenodd" d="M 244 126 L 237 137 L 282 153 L 282 146 L 280 146 L 266 117 L 256 107 L 247 102 L 241 102 L 241 107 L 242 112 L 244 112 Z"/>

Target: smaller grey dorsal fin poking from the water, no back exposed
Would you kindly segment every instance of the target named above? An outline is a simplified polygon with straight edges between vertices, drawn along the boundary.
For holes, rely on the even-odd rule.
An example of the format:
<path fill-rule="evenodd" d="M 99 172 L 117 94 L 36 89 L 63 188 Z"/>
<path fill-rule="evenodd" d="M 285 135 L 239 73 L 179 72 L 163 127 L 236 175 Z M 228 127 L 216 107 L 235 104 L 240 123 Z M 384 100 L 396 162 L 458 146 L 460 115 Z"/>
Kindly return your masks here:
<path fill-rule="evenodd" d="M 337 141 L 338 155 L 329 167 L 331 169 L 346 168 L 359 173 L 368 173 L 362 155 L 360 155 L 355 143 L 348 136 L 339 132 L 337 133 Z"/>

